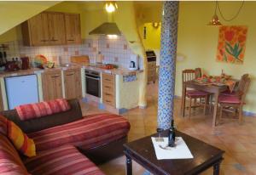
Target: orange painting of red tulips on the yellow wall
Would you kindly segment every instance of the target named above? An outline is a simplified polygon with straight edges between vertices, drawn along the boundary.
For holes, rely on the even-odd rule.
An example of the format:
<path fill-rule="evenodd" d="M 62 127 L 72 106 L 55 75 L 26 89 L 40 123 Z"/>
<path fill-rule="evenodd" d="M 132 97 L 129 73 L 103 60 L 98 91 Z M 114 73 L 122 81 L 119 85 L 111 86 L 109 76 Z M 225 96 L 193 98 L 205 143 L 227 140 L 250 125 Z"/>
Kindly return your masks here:
<path fill-rule="evenodd" d="M 242 64 L 246 48 L 247 26 L 220 26 L 217 61 Z"/>

